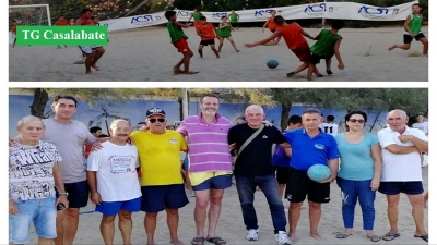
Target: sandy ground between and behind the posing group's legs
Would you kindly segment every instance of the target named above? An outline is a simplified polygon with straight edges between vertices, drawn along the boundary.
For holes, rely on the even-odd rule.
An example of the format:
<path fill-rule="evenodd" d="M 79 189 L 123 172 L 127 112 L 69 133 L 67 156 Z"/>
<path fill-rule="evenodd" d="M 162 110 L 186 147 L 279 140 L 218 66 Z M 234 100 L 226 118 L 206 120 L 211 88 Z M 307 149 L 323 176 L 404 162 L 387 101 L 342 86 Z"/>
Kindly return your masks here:
<path fill-rule="evenodd" d="M 425 192 L 428 191 L 428 167 L 424 167 L 423 179 Z M 188 194 L 188 192 L 187 192 Z M 190 203 L 179 210 L 179 238 L 185 244 L 189 245 L 192 237 L 196 235 L 196 226 L 192 217 L 194 208 L 194 197 L 189 197 Z M 91 204 L 91 201 L 90 201 Z M 287 200 L 283 200 L 285 208 L 288 206 Z M 387 201 L 386 196 L 377 192 L 375 201 L 376 219 L 375 219 L 375 233 L 383 235 L 389 232 L 389 222 L 387 219 Z M 216 230 L 216 235 L 227 240 L 229 245 L 252 244 L 252 245 L 275 245 L 273 235 L 273 225 L 271 221 L 269 206 L 265 197 L 261 191 L 256 192 L 255 208 L 258 215 L 258 223 L 260 237 L 259 241 L 249 242 L 246 240 L 246 228 L 243 222 L 241 209 L 238 201 L 238 194 L 235 185 L 225 191 L 223 199 L 222 213 Z M 81 211 L 86 212 L 94 209 L 91 204 L 88 207 L 83 208 Z M 80 224 L 78 235 L 74 244 L 103 244 L 103 238 L 99 233 L 99 222 L 102 215 L 97 212 L 83 213 L 80 216 Z M 132 229 L 132 244 L 145 244 L 145 231 L 143 228 L 144 212 L 135 212 L 132 215 L 133 229 Z M 319 233 L 323 237 L 322 241 L 317 241 L 308 235 L 308 205 L 303 205 L 300 220 L 297 226 L 297 235 L 294 244 L 375 244 L 370 242 L 363 231 L 362 213 L 359 205 L 355 209 L 355 223 L 353 235 L 344 240 L 335 238 L 334 232 L 343 231 L 343 220 L 341 215 L 341 197 L 340 188 L 336 183 L 331 185 L 331 201 L 322 205 L 322 217 L 319 224 Z M 399 205 L 399 232 L 400 237 L 392 241 L 392 244 L 426 244 L 425 241 L 413 236 L 415 225 L 411 216 L 411 205 L 405 195 L 401 195 Z M 205 224 L 205 231 L 208 222 Z M 428 228 L 428 209 L 425 208 L 425 228 Z M 287 225 L 288 229 L 288 225 Z M 120 231 L 117 228 L 115 232 L 115 244 L 122 244 Z M 36 235 L 32 234 L 32 244 L 36 244 Z M 165 212 L 160 212 L 157 220 L 157 228 L 155 232 L 156 244 L 169 244 L 169 234 L 166 225 Z M 379 244 L 386 244 L 386 241 L 380 241 Z M 209 243 L 205 243 L 209 244 Z"/>

